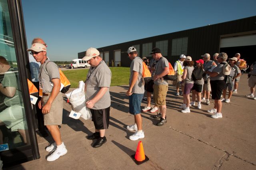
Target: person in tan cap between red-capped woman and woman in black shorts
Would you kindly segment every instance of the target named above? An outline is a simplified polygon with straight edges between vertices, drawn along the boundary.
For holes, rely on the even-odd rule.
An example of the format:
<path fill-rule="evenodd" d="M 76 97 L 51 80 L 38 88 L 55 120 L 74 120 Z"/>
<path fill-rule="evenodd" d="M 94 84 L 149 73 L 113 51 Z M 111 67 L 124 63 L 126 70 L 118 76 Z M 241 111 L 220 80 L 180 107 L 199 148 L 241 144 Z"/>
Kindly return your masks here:
<path fill-rule="evenodd" d="M 210 54 L 206 53 L 202 55 L 204 60 L 204 71 L 207 72 L 212 66 L 217 66 L 217 64 L 210 60 L 211 56 Z M 206 102 L 207 105 L 210 105 L 210 91 L 211 91 L 211 85 L 210 85 L 210 76 L 204 77 L 204 86 L 203 86 L 203 98 L 202 102 Z"/>

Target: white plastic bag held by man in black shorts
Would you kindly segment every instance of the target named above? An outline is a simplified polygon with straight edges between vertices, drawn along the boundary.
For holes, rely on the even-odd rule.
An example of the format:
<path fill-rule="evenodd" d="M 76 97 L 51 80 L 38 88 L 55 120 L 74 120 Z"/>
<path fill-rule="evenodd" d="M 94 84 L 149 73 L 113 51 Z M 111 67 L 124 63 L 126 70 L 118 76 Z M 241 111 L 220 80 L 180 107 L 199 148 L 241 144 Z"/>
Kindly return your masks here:
<path fill-rule="evenodd" d="M 69 102 L 72 105 L 72 109 L 75 112 L 81 114 L 81 117 L 85 120 L 92 119 L 92 113 L 89 108 L 86 108 L 86 98 L 84 93 L 85 84 L 83 81 L 79 82 L 79 87 L 73 90 L 70 93 L 67 93 L 66 96 L 69 99 Z"/>

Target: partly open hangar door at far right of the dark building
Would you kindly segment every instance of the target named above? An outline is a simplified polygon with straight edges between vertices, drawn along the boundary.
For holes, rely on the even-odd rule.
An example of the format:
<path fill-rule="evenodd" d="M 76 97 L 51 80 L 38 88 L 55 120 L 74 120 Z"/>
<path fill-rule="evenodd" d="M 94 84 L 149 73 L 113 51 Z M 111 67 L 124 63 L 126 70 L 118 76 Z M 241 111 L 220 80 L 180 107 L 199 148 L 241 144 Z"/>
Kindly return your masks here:
<path fill-rule="evenodd" d="M 241 58 L 245 59 L 250 65 L 256 61 L 256 35 L 237 36 L 220 39 L 220 52 L 226 52 L 228 58 L 234 57 L 236 53 L 241 54 Z"/>

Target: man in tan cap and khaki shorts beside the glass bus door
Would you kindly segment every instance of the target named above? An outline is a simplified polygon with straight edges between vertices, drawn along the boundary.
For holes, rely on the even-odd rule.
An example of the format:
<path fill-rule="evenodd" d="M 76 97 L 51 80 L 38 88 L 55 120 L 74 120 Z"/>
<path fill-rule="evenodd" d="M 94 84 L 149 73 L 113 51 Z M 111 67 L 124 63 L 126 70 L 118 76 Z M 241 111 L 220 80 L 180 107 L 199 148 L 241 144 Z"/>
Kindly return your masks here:
<path fill-rule="evenodd" d="M 42 97 L 38 107 L 42 108 L 44 114 L 44 125 L 48 128 L 54 143 L 46 148 L 52 152 L 47 157 L 48 161 L 54 161 L 68 151 L 61 140 L 58 125 L 62 124 L 63 97 L 60 92 L 60 72 L 58 66 L 46 56 L 46 46 L 40 43 L 32 44 L 31 51 L 34 59 L 41 63 L 39 72 L 39 95 Z M 53 84 L 53 86 L 52 86 Z"/>

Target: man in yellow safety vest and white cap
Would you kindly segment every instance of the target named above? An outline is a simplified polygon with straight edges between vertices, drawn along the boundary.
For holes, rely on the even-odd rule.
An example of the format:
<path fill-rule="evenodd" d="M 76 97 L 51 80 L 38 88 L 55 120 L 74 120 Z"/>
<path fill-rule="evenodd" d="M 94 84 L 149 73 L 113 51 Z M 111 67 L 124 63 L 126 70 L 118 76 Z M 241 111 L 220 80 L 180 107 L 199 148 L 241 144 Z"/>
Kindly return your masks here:
<path fill-rule="evenodd" d="M 176 82 L 176 96 L 183 95 L 184 85 L 181 85 L 181 94 L 179 93 L 180 89 L 180 82 L 182 81 L 182 74 L 183 74 L 183 62 L 185 61 L 186 56 L 184 54 L 180 55 L 180 58 L 174 63 L 174 74 L 177 76 L 178 80 Z"/>

